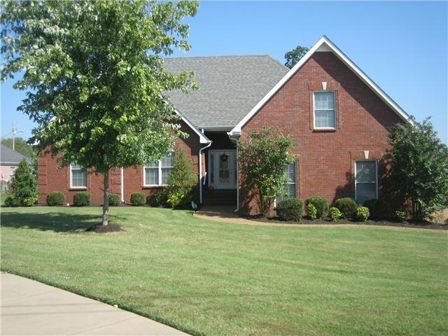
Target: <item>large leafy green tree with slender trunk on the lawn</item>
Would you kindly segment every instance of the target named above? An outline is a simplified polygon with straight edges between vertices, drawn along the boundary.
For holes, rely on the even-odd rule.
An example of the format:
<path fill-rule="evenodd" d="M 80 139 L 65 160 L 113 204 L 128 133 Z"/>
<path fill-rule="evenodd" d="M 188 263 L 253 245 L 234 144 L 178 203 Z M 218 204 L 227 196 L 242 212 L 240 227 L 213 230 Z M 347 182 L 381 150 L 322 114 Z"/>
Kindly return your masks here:
<path fill-rule="evenodd" d="M 19 107 L 38 127 L 31 141 L 60 165 L 104 174 L 158 160 L 186 137 L 164 92 L 196 88 L 193 72 L 169 73 L 163 55 L 190 50 L 197 1 L 3 1 L 1 80 L 24 71 Z"/>

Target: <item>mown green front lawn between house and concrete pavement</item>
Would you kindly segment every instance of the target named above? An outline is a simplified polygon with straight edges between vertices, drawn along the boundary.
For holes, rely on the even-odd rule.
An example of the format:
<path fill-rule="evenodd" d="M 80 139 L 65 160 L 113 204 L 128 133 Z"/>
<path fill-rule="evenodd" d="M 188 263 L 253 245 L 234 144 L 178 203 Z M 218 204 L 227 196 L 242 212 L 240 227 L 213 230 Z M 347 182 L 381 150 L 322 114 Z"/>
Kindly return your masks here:
<path fill-rule="evenodd" d="M 1 209 L 1 269 L 194 335 L 447 335 L 448 235 L 216 223 L 113 208 Z"/>

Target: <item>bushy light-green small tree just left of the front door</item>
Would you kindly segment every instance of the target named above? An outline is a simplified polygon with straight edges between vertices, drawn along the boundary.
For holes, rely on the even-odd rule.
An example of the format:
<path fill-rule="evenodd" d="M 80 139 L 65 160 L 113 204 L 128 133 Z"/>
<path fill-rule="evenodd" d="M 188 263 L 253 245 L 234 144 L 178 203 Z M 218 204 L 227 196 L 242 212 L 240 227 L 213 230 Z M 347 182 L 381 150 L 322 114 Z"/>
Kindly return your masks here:
<path fill-rule="evenodd" d="M 174 169 L 168 175 L 168 204 L 174 208 L 190 207 L 196 182 L 197 176 L 193 173 L 193 163 L 186 158 L 185 149 L 177 150 Z"/>

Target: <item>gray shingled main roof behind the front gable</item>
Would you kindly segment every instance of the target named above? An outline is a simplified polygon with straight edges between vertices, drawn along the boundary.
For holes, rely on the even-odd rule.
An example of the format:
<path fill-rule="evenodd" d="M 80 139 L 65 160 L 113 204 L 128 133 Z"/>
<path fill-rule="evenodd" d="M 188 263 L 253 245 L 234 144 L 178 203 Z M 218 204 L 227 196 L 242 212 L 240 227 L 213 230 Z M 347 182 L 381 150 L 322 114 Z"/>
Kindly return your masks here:
<path fill-rule="evenodd" d="M 231 130 L 289 70 L 267 55 L 167 58 L 165 69 L 195 71 L 200 90 L 168 95 L 186 118 L 206 130 Z"/>

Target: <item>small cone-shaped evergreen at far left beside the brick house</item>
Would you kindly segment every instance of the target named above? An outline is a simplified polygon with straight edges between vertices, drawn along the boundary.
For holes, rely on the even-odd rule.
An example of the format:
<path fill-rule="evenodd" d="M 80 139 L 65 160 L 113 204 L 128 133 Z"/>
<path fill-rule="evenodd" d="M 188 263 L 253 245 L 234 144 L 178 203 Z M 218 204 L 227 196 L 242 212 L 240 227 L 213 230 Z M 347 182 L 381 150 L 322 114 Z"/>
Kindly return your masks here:
<path fill-rule="evenodd" d="M 11 183 L 11 202 L 16 207 L 31 207 L 39 196 L 37 179 L 25 160 L 19 163 Z"/>

